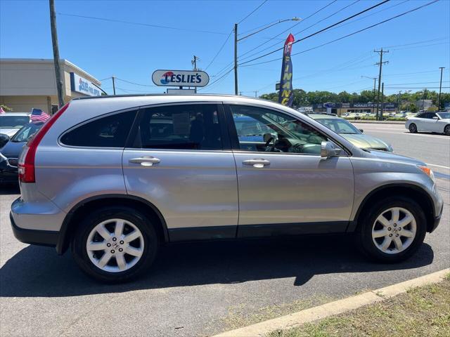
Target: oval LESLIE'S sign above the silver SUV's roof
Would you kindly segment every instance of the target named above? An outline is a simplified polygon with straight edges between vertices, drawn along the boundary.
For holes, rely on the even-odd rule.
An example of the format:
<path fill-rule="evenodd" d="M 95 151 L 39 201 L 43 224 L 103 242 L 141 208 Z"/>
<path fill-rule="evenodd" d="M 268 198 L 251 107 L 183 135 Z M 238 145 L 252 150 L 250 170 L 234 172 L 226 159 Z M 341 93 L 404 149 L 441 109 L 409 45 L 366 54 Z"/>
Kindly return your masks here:
<path fill-rule="evenodd" d="M 152 74 L 157 86 L 206 86 L 210 77 L 206 72 L 188 70 L 156 70 Z"/>

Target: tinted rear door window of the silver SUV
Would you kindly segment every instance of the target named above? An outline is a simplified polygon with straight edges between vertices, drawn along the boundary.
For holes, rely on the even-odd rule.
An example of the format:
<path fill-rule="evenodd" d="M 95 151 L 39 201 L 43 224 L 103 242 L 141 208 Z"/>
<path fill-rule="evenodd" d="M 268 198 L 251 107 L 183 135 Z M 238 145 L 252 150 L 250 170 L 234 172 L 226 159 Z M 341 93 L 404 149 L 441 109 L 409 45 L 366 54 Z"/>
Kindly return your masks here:
<path fill-rule="evenodd" d="M 168 105 L 143 110 L 133 147 L 222 150 L 217 105 Z"/>

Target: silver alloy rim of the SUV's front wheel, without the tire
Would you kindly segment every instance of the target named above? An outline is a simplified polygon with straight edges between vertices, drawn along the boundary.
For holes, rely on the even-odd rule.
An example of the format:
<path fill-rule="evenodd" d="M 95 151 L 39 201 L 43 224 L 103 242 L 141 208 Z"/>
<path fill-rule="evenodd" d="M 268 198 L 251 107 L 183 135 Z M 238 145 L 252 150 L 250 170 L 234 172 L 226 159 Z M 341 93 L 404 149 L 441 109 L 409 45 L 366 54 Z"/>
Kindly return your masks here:
<path fill-rule="evenodd" d="M 416 232 L 416 218 L 413 214 L 407 209 L 392 207 L 376 218 L 372 226 L 372 239 L 383 253 L 396 254 L 411 246 Z"/>

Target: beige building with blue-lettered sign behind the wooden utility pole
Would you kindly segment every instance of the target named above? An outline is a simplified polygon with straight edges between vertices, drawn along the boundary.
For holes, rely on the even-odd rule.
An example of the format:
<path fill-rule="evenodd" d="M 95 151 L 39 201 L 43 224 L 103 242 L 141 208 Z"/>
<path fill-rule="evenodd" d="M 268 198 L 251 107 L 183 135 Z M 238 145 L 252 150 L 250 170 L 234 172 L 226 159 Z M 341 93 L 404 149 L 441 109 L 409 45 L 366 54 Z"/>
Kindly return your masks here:
<path fill-rule="evenodd" d="M 101 82 L 68 60 L 60 60 L 64 101 L 101 95 Z M 0 104 L 13 112 L 58 110 L 53 59 L 1 58 Z"/>

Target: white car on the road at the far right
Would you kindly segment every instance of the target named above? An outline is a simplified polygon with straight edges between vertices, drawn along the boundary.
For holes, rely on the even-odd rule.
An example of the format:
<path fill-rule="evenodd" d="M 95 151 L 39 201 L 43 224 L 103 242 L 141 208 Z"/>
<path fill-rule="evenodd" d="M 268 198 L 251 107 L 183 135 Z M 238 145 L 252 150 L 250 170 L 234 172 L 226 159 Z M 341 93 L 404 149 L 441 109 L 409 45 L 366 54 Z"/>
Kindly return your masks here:
<path fill-rule="evenodd" d="M 411 133 L 437 132 L 450 136 L 450 112 L 422 112 L 408 117 L 405 128 Z"/>

